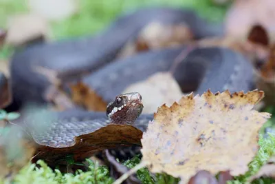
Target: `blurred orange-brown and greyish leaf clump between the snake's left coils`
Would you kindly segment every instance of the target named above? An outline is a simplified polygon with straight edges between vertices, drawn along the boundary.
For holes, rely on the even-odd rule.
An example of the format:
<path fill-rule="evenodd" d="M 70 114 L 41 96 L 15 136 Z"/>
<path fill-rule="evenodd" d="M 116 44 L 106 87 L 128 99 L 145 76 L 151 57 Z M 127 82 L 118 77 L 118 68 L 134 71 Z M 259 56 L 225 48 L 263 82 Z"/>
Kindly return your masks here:
<path fill-rule="evenodd" d="M 34 68 L 34 70 L 43 74 L 52 83 L 47 88 L 44 98 L 55 103 L 58 110 L 72 108 L 75 105 L 79 105 L 86 110 L 100 112 L 106 110 L 107 102 L 80 80 L 89 71 L 85 69 L 56 71 L 41 66 Z"/>

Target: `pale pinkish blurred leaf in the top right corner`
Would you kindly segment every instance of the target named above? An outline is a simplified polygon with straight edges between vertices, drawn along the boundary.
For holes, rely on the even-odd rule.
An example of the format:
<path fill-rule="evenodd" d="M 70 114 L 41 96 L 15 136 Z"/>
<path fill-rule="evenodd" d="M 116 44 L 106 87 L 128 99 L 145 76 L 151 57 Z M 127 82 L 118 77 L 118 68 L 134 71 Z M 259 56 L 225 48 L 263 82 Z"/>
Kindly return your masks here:
<path fill-rule="evenodd" d="M 275 1 L 234 1 L 225 18 L 225 34 L 238 39 L 246 38 L 254 25 L 267 30 L 271 41 L 275 40 Z"/>

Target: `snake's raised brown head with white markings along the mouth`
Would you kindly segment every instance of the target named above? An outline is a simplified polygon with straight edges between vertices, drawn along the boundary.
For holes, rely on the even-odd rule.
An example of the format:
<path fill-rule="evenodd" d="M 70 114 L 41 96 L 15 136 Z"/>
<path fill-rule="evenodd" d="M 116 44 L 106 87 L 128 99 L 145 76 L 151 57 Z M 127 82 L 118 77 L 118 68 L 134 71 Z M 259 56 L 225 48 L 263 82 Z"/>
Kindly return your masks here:
<path fill-rule="evenodd" d="M 133 124 L 142 110 L 142 96 L 131 92 L 115 96 L 115 100 L 107 105 L 106 113 L 112 123 Z"/>

